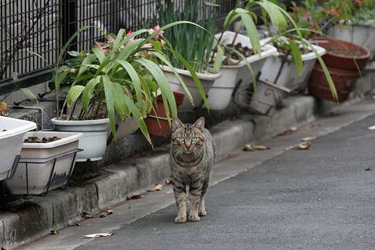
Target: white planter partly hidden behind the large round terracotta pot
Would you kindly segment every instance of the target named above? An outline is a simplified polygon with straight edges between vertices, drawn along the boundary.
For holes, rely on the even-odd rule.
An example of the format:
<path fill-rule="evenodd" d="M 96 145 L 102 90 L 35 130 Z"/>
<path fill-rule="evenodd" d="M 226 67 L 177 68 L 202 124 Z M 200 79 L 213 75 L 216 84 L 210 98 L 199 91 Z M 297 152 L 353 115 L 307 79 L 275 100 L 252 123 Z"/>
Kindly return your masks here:
<path fill-rule="evenodd" d="M 370 51 L 371 55 L 375 53 L 375 20 L 369 20 L 364 25 L 344 25 L 341 30 L 338 25 L 328 30 L 328 35 L 338 40 L 352 42 L 360 47 L 364 47 Z"/>

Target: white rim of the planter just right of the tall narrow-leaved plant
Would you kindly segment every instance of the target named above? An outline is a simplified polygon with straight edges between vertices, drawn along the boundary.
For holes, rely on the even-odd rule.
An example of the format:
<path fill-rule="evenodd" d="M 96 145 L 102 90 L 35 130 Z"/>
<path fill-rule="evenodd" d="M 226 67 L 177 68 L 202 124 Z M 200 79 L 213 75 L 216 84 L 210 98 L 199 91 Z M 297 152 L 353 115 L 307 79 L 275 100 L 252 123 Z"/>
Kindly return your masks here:
<path fill-rule="evenodd" d="M 215 37 L 219 38 L 220 35 L 221 35 L 221 33 L 217 33 L 215 35 Z M 233 35 L 235 35 L 235 32 L 233 32 L 233 31 L 224 31 L 223 38 L 225 38 L 226 36 L 233 36 Z M 244 38 L 244 39 L 249 39 L 250 40 L 250 38 L 248 38 L 246 35 L 241 35 L 241 34 L 238 34 L 238 38 Z M 260 60 L 260 59 L 268 57 L 268 56 L 272 56 L 275 53 L 277 53 L 276 47 L 272 46 L 271 44 L 265 44 L 265 42 L 260 42 L 260 45 L 262 46 L 262 48 L 264 50 L 262 50 L 260 52 L 260 55 L 252 55 L 252 56 L 247 57 L 246 58 L 247 63 L 253 63 L 253 62 L 256 62 L 257 60 Z M 250 47 L 250 49 L 252 49 L 252 47 Z M 238 61 L 238 60 L 233 60 L 233 61 Z M 231 68 L 231 69 L 234 69 L 234 68 L 243 67 L 247 63 L 245 63 L 244 60 L 242 60 L 238 65 L 222 65 L 221 67 L 222 68 Z"/>

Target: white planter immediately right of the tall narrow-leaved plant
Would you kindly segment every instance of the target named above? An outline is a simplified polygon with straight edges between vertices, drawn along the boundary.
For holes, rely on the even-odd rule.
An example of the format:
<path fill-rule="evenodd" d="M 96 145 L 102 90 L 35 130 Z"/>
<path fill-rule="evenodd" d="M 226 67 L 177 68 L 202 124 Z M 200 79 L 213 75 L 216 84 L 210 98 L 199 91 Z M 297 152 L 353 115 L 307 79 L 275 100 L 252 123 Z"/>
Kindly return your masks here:
<path fill-rule="evenodd" d="M 215 36 L 218 39 L 220 35 L 221 33 Z M 223 45 L 231 44 L 234 36 L 234 32 L 225 31 L 220 43 Z M 238 34 L 235 44 L 238 43 L 241 43 L 242 47 L 249 47 L 249 49 L 252 48 L 250 39 L 245 35 Z M 260 55 L 249 56 L 246 58 L 247 63 L 249 63 L 253 69 L 254 77 L 256 77 L 260 69 L 262 69 L 267 57 L 272 56 L 276 52 L 277 50 L 275 47 L 265 44 L 262 47 L 262 52 Z M 215 81 L 212 88 L 208 92 L 208 105 L 210 110 L 224 110 L 231 101 L 233 89 L 237 84 L 240 84 L 238 89 L 243 89 L 253 82 L 253 77 L 251 76 L 247 63 L 242 60 L 240 63 L 238 63 L 238 65 L 222 65 L 220 68 L 222 77 Z"/>

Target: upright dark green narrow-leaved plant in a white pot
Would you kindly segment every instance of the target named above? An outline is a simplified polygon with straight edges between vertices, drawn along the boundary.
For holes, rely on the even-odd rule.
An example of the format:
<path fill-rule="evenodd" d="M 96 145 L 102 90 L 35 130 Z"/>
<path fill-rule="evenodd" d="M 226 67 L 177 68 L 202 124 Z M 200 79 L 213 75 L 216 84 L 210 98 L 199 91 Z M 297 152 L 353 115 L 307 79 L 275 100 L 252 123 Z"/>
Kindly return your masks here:
<path fill-rule="evenodd" d="M 190 111 L 194 106 L 206 105 L 206 94 L 217 78 L 221 76 L 217 68 L 210 67 L 210 53 L 215 40 L 217 6 L 204 1 L 188 0 L 181 5 L 167 0 L 158 2 L 158 23 L 161 25 L 181 20 L 199 26 L 174 26 L 171 32 L 163 34 L 167 44 L 167 55 L 185 84 L 172 74 L 170 67 L 163 67 L 172 90 L 185 92 L 178 111 Z M 203 28 L 202 28 L 203 27 Z M 190 63 L 190 65 L 187 64 Z"/>

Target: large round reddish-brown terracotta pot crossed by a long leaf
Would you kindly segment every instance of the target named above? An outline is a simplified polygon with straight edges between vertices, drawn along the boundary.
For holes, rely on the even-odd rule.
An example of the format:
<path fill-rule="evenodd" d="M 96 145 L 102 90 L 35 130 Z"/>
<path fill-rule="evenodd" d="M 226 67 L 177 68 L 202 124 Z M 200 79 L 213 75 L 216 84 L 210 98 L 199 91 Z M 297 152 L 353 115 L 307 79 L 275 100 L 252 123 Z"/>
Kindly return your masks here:
<path fill-rule="evenodd" d="M 322 59 L 324 60 L 328 72 L 331 74 L 332 81 L 335 84 L 336 91 L 338 92 L 338 101 L 345 101 L 349 97 L 349 94 L 351 90 L 353 90 L 360 75 L 356 63 L 359 69 L 365 67 L 370 56 L 369 51 L 357 44 L 343 40 L 333 40 L 331 38 L 322 37 L 315 38 L 314 40 L 324 41 L 319 42 L 320 47 L 327 49 L 326 54 L 322 56 Z M 361 51 L 361 56 L 342 56 L 332 53 L 329 51 L 329 48 L 332 47 L 341 50 L 349 49 L 351 51 Z M 356 63 L 353 58 L 356 60 Z M 315 63 L 313 72 L 310 75 L 308 90 L 311 95 L 317 98 L 336 101 L 332 96 L 323 69 L 318 62 Z"/>

